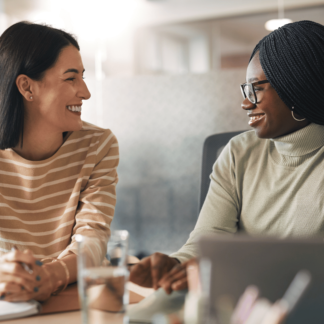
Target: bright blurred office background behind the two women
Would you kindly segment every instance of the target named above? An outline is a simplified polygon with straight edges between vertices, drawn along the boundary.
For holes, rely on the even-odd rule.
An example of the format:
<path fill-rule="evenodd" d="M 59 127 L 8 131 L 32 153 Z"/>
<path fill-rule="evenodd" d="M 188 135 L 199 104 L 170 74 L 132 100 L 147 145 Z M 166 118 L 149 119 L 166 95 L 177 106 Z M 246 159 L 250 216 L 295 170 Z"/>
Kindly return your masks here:
<path fill-rule="evenodd" d="M 280 0 L 281 1 L 281 0 Z M 79 40 L 92 94 L 82 119 L 120 144 L 114 229 L 131 252 L 179 249 L 197 219 L 202 145 L 249 129 L 239 83 L 277 0 L 0 0 L 1 32 L 45 22 Z M 324 0 L 285 0 L 324 24 Z"/>

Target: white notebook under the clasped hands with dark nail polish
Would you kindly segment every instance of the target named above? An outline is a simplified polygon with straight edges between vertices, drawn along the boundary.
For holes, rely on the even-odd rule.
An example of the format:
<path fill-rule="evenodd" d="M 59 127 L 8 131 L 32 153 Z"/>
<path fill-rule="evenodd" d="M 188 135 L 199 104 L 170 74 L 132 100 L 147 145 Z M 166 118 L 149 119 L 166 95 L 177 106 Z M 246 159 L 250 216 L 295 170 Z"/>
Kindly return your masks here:
<path fill-rule="evenodd" d="M 41 310 L 41 304 L 36 300 L 28 302 L 6 302 L 0 301 L 0 320 L 19 318 L 35 315 Z"/>

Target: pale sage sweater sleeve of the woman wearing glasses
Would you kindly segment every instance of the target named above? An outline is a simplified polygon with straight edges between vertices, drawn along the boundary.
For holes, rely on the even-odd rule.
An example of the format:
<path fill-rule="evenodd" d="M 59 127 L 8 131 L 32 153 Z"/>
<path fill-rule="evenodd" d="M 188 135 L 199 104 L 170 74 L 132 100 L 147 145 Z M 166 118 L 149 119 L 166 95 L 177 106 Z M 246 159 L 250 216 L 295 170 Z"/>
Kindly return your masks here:
<path fill-rule="evenodd" d="M 235 159 L 227 144 L 213 166 L 211 183 L 196 226 L 187 243 L 172 253 L 181 263 L 199 254 L 198 239 L 215 234 L 233 235 L 237 231 L 239 215 L 235 185 Z"/>

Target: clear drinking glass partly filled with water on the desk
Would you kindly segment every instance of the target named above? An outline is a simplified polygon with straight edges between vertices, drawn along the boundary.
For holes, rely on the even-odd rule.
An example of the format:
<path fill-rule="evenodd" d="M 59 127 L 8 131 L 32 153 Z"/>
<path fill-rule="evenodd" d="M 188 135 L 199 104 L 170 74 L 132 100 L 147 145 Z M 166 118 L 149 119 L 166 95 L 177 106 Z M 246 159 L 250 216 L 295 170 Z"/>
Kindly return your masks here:
<path fill-rule="evenodd" d="M 110 318 L 114 323 L 125 322 L 122 313 L 129 303 L 129 293 L 126 289 L 129 278 L 128 238 L 129 234 L 126 230 L 112 231 L 107 244 L 106 258 L 98 265 L 95 261 L 95 253 L 89 249 L 96 244 L 94 242 L 96 238 L 76 235 L 79 251 L 78 291 L 82 308 L 82 324 L 97 323 L 98 317 L 104 317 L 107 323 Z"/>

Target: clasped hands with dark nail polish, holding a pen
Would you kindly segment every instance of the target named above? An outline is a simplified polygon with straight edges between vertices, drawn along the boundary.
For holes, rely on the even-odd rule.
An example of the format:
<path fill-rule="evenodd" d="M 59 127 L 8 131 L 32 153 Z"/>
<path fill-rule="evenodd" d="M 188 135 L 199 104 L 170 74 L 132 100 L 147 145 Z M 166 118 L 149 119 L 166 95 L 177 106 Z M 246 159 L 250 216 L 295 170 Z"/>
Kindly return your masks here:
<path fill-rule="evenodd" d="M 28 265 L 32 274 L 24 269 L 22 262 Z M 35 259 L 30 250 L 11 251 L 0 258 L 1 300 L 46 300 L 61 284 L 52 282 L 46 266 Z"/>

